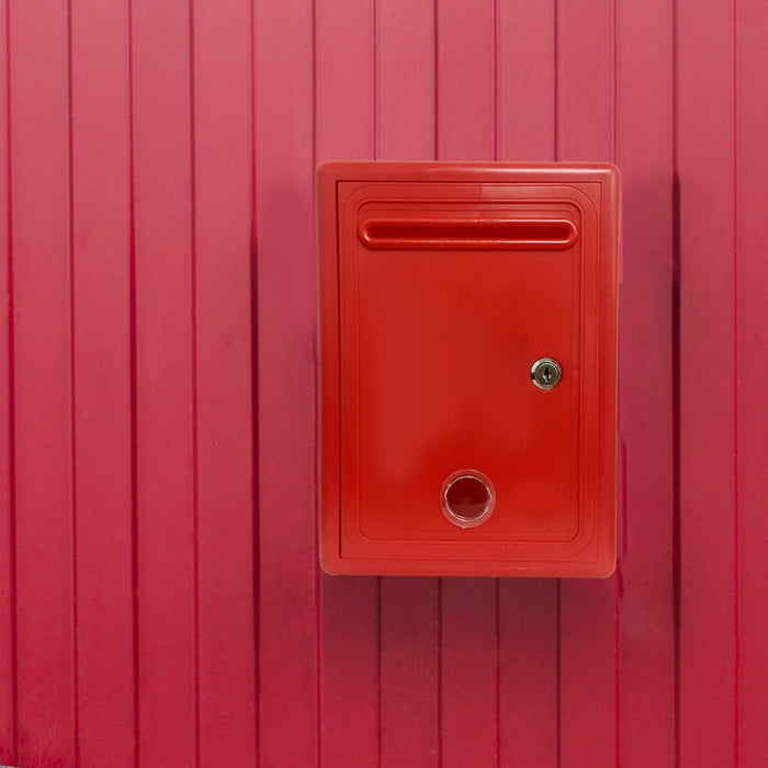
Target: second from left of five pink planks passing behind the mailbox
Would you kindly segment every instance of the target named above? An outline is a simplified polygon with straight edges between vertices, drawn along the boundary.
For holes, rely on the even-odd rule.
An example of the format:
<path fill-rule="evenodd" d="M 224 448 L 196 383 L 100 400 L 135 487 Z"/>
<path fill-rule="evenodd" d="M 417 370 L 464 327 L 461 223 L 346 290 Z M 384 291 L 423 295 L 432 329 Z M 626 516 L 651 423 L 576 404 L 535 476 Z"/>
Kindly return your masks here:
<path fill-rule="evenodd" d="M 432 0 L 379 0 L 379 157 L 434 158 Z M 381 580 L 382 768 L 440 760 L 438 579 Z"/>

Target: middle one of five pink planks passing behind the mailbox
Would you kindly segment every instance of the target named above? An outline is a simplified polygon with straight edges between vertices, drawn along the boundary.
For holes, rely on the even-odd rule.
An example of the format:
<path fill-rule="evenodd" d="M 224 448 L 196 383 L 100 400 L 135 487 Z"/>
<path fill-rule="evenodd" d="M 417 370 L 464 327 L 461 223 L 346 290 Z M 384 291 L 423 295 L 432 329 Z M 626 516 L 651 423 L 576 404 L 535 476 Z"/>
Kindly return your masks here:
<path fill-rule="evenodd" d="M 493 160 L 498 64 L 495 2 L 448 0 L 439 4 L 436 22 L 438 159 Z M 441 581 L 441 765 L 494 765 L 498 756 L 497 581 Z M 471 718 L 467 701 L 472 701 Z"/>

